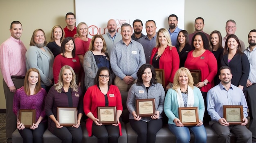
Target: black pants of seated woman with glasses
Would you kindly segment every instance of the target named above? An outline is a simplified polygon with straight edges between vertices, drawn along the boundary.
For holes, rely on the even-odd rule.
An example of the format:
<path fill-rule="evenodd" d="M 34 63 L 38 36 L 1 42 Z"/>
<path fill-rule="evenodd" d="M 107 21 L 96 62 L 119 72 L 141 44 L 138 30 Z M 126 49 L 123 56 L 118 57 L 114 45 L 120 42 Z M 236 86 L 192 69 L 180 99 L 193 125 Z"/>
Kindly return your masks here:
<path fill-rule="evenodd" d="M 119 127 L 92 123 L 92 134 L 97 137 L 98 143 L 118 143 Z"/>

